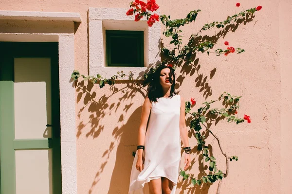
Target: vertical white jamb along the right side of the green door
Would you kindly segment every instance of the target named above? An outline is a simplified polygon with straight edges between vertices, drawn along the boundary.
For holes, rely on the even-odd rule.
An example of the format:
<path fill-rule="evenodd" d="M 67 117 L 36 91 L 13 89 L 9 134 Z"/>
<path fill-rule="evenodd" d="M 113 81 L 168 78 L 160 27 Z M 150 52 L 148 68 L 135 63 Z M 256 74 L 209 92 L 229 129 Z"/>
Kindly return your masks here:
<path fill-rule="evenodd" d="M 59 35 L 62 193 L 77 194 L 75 89 L 69 82 L 74 70 L 74 35 Z"/>

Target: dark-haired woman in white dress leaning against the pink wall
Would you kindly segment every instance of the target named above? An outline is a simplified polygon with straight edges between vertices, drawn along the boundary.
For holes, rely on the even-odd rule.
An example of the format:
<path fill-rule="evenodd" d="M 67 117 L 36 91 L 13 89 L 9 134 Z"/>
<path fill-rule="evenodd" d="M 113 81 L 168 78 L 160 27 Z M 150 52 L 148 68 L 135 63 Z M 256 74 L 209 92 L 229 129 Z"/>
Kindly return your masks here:
<path fill-rule="evenodd" d="M 142 107 L 129 194 L 143 193 L 145 183 L 149 184 L 150 194 L 175 194 L 181 161 L 180 137 L 185 150 L 184 170 L 190 165 L 185 103 L 174 91 L 172 65 L 160 66 L 152 76 Z"/>

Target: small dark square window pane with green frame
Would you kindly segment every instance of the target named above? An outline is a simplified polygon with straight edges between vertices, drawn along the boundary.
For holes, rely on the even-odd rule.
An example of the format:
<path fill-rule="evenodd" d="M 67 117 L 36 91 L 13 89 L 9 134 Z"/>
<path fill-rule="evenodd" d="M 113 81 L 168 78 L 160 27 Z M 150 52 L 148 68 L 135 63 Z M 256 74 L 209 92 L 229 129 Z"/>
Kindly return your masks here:
<path fill-rule="evenodd" d="M 106 30 L 106 66 L 144 67 L 144 32 Z"/>

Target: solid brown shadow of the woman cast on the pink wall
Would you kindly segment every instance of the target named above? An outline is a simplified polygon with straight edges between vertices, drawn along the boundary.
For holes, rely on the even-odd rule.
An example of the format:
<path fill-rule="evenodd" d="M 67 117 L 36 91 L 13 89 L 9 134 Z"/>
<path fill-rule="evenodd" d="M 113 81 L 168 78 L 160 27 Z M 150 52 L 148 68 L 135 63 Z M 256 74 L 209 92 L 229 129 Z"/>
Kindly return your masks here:
<path fill-rule="evenodd" d="M 112 135 L 118 138 L 115 165 L 110 179 L 108 194 L 128 194 L 130 174 L 133 164 L 133 152 L 137 148 L 142 106 L 138 107 L 121 128 L 115 128 Z M 148 192 L 147 184 L 144 188 Z"/>

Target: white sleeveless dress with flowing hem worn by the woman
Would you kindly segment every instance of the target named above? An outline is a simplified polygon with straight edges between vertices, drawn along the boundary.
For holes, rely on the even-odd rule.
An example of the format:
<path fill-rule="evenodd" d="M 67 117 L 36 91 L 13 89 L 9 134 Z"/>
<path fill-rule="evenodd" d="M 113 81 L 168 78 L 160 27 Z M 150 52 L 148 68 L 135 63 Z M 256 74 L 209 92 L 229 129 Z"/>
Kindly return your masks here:
<path fill-rule="evenodd" d="M 135 155 L 129 185 L 129 194 L 144 194 L 145 183 L 166 177 L 173 182 L 171 194 L 175 194 L 181 162 L 180 139 L 181 96 L 158 98 L 152 102 L 145 135 L 144 169 L 136 169 Z"/>

